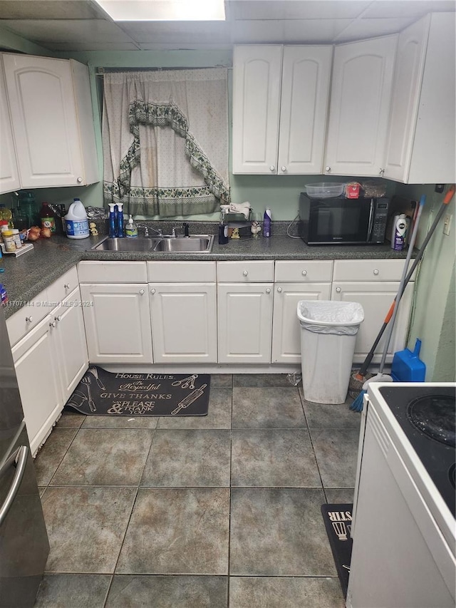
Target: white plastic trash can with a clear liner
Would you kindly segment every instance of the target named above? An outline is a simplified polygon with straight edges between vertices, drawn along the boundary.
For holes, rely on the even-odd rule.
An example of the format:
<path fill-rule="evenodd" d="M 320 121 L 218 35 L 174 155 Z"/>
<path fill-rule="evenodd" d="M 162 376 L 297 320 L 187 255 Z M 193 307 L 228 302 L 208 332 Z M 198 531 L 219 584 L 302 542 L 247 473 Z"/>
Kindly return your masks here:
<path fill-rule="evenodd" d="M 306 401 L 344 403 L 356 334 L 364 320 L 358 302 L 301 300 L 302 386 Z"/>

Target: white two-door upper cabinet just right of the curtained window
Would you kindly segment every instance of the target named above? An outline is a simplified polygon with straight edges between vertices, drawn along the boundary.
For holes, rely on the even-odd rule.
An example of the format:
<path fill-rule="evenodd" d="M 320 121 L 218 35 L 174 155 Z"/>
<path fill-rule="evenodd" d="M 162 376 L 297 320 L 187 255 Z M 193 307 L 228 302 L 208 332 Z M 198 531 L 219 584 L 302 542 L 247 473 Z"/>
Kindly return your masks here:
<path fill-rule="evenodd" d="M 321 172 L 332 46 L 236 46 L 233 173 Z"/>

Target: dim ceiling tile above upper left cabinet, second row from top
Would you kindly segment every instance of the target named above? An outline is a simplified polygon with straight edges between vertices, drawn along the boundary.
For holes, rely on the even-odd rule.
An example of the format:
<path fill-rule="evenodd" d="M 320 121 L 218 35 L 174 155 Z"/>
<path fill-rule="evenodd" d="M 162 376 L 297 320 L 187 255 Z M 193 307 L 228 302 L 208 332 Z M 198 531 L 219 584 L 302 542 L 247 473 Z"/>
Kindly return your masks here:
<path fill-rule="evenodd" d="M 36 43 L 48 42 L 132 42 L 131 38 L 110 21 L 103 19 L 34 19 L 0 20 L 0 25 Z"/>

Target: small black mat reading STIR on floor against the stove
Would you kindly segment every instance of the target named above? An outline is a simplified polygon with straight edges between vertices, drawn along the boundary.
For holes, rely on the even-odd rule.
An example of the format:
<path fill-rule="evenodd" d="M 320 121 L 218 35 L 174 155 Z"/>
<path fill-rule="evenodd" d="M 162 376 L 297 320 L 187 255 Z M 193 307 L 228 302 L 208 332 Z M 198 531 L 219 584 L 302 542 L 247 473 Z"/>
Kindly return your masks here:
<path fill-rule="evenodd" d="M 321 505 L 321 515 L 326 527 L 329 545 L 333 552 L 334 563 L 341 583 L 343 597 L 347 597 L 348 574 L 350 574 L 351 517 L 353 504 Z"/>

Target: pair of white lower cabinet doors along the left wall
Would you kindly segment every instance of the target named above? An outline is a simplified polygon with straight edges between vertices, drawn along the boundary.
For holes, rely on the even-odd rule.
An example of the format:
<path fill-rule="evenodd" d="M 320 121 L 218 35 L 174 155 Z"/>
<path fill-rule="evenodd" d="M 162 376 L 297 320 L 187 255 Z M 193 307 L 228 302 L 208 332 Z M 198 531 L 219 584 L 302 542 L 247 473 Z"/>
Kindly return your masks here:
<path fill-rule="evenodd" d="M 76 288 L 12 348 L 33 455 L 88 368 L 80 300 Z"/>

